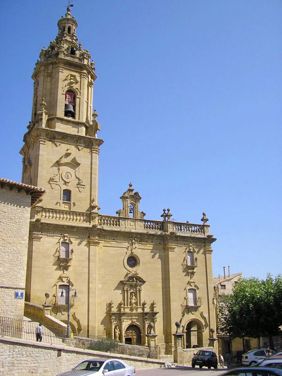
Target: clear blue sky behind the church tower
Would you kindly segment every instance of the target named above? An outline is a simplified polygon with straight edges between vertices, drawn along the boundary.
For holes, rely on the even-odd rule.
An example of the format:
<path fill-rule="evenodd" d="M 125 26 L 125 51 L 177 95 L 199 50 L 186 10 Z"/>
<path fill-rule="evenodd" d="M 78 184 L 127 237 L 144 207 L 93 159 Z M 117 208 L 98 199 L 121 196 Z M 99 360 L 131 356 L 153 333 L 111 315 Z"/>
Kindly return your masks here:
<path fill-rule="evenodd" d="M 129 182 L 140 210 L 200 223 L 214 276 L 281 272 L 280 0 L 75 0 L 95 65 L 99 205 L 115 215 Z M 20 181 L 39 52 L 66 0 L 3 0 L 0 176 Z"/>

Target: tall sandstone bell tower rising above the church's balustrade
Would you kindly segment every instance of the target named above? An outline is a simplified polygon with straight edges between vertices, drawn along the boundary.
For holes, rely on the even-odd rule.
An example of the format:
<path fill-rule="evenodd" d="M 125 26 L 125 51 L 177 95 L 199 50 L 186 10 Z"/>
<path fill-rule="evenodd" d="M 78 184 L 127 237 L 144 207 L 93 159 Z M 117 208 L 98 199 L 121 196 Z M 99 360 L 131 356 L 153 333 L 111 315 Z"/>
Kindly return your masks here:
<path fill-rule="evenodd" d="M 58 35 L 41 50 L 32 74 L 32 116 L 24 135 L 22 181 L 44 187 L 42 208 L 97 211 L 98 156 L 103 141 L 92 108 L 94 62 L 77 42 L 67 8 Z"/>

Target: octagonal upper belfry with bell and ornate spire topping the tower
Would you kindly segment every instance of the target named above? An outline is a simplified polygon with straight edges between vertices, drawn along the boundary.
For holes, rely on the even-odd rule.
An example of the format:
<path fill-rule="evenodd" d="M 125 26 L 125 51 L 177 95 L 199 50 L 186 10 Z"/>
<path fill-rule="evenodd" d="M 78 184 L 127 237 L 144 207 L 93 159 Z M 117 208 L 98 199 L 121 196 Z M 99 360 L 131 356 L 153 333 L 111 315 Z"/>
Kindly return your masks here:
<path fill-rule="evenodd" d="M 94 62 L 90 61 L 88 50 L 83 50 L 82 44 L 77 42 L 77 21 L 74 16 L 71 17 L 70 7 L 65 17 L 58 21 L 58 28 L 55 40 L 50 41 L 47 49 L 44 46 L 41 50 L 40 61 L 36 62 L 32 75 L 31 128 L 38 125 L 39 103 L 44 97 L 48 117 L 43 127 L 68 131 L 73 129 L 73 120 L 76 120 L 77 133 L 87 134 L 93 112 L 93 84 L 97 78 Z"/>

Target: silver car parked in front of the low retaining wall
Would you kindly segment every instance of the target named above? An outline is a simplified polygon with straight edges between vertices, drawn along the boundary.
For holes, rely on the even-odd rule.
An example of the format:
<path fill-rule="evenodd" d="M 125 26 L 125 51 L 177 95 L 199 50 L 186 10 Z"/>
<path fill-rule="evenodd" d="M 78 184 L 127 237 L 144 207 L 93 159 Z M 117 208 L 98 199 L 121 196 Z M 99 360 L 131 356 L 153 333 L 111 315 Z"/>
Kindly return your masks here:
<path fill-rule="evenodd" d="M 83 360 L 72 370 L 60 373 L 57 376 L 104 376 L 105 374 L 107 376 L 133 376 L 135 375 L 135 367 L 120 359 L 91 358 Z"/>

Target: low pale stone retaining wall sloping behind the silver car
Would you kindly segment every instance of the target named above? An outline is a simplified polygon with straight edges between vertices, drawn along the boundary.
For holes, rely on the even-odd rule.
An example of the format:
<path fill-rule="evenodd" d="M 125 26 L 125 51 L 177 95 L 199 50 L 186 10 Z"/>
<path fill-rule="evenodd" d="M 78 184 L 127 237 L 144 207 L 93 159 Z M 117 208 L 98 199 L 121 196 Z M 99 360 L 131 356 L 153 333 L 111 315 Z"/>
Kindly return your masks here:
<path fill-rule="evenodd" d="M 9 355 L 8 355 L 9 354 Z M 156 368 L 164 362 L 124 355 L 99 353 L 90 350 L 74 350 L 61 345 L 34 343 L 32 341 L 8 337 L 0 338 L 0 375 L 56 376 L 58 373 L 71 370 L 75 365 L 87 358 L 120 358 L 136 370 Z"/>

